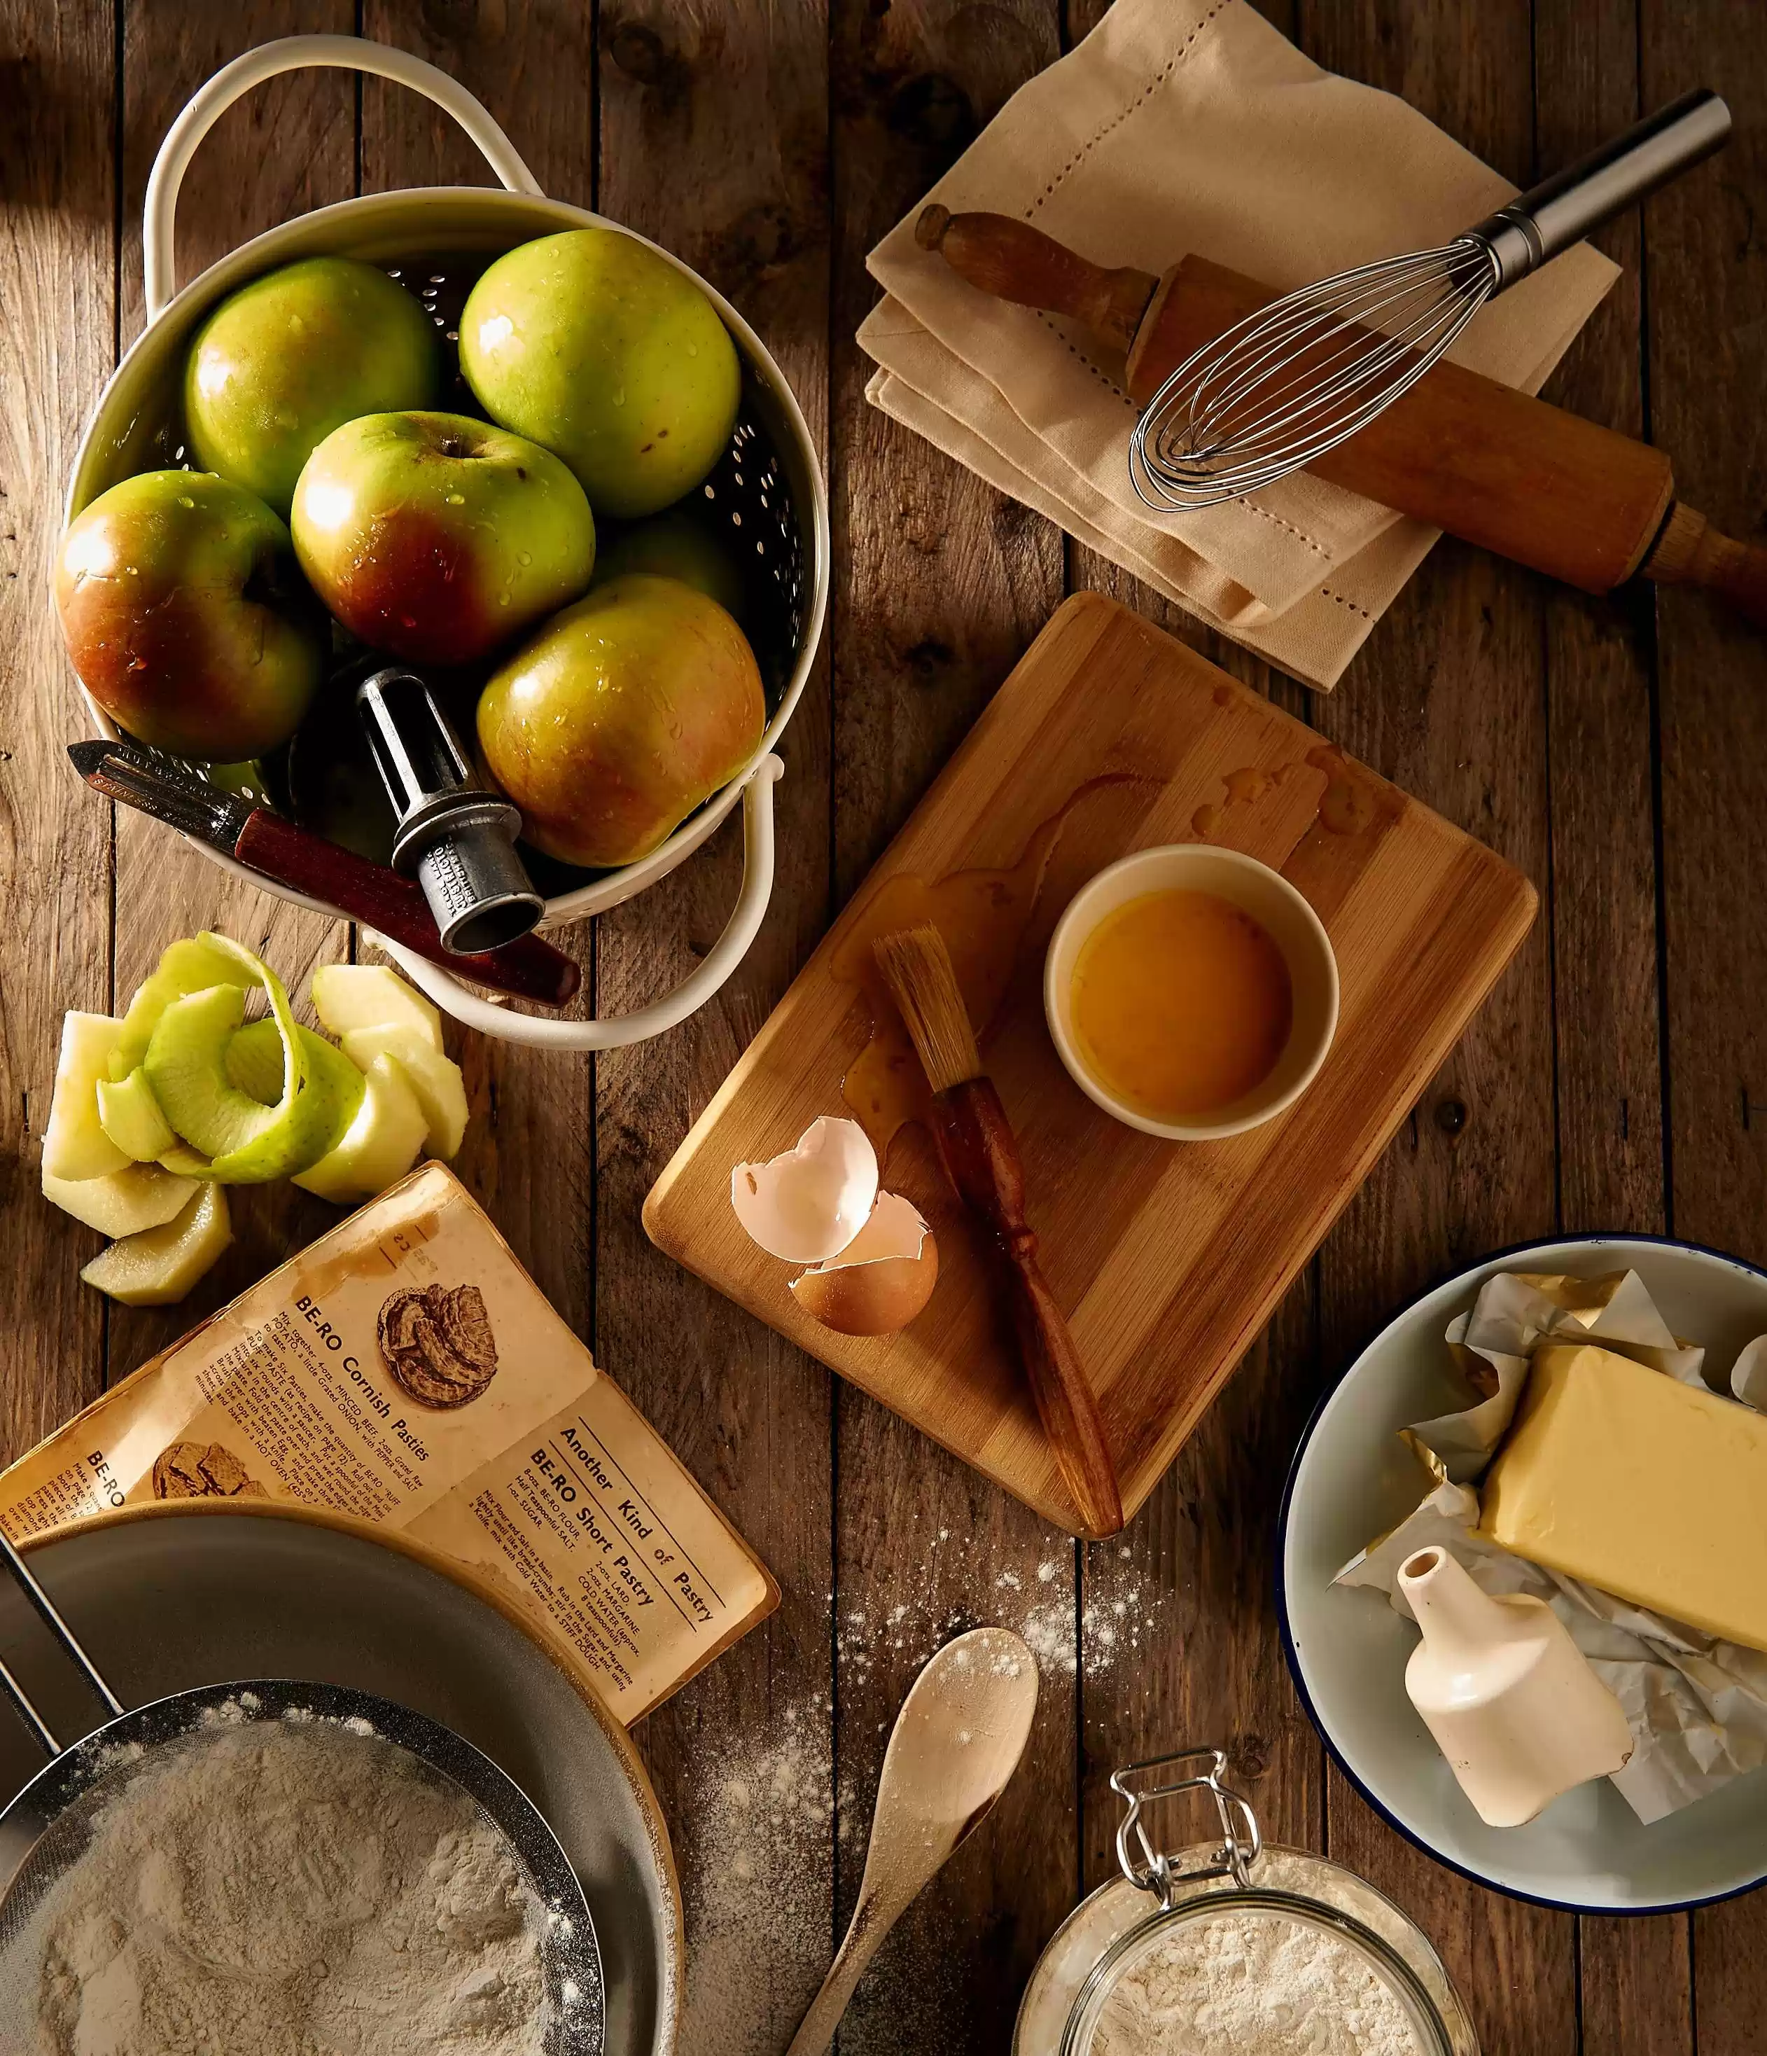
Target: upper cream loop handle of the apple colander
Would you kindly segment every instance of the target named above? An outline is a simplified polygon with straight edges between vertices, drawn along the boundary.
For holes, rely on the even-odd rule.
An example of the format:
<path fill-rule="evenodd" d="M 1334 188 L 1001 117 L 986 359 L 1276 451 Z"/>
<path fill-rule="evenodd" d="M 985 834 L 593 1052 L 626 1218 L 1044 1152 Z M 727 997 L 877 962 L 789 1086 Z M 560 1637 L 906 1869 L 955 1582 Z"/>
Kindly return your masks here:
<path fill-rule="evenodd" d="M 185 183 L 185 173 L 203 136 L 236 99 L 251 93 L 253 86 L 261 86 L 265 78 L 318 68 L 374 72 L 376 78 L 411 86 L 413 93 L 421 93 L 425 101 L 434 101 L 454 115 L 507 191 L 542 197 L 538 179 L 485 107 L 456 78 L 434 64 L 425 64 L 405 49 L 392 49 L 388 43 L 370 43 L 360 35 L 286 35 L 224 64 L 205 86 L 191 95 L 183 113 L 166 130 L 148 175 L 148 197 L 142 210 L 142 273 L 148 290 L 148 321 L 158 321 L 179 290 L 173 247 L 179 187 Z"/>

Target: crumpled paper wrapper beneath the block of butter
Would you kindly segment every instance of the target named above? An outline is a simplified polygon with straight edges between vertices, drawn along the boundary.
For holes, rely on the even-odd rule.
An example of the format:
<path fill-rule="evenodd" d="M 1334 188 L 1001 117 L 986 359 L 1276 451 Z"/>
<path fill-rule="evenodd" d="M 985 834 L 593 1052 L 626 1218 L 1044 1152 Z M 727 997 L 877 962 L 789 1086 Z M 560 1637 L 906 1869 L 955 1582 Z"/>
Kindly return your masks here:
<path fill-rule="evenodd" d="M 1490 1593 L 1545 1600 L 1596 1676 L 1625 1709 L 1633 1754 L 1613 1774 L 1642 1822 L 1662 1820 L 1767 1764 L 1767 1653 L 1716 1641 L 1578 1579 L 1527 1563 L 1477 1534 L 1477 1484 L 1504 1439 L 1541 1343 L 1599 1343 L 1664 1378 L 1703 1386 L 1703 1349 L 1670 1334 L 1636 1271 L 1599 1279 L 1498 1273 L 1469 1314 L 1449 1324 L 1477 1402 L 1401 1429 L 1434 1486 L 1391 1532 L 1338 1573 L 1340 1585 L 1397 1587 L 1399 1565 L 1446 1544 Z M 1730 1378 L 1738 1400 L 1767 1412 L 1767 1336 L 1749 1343 Z"/>

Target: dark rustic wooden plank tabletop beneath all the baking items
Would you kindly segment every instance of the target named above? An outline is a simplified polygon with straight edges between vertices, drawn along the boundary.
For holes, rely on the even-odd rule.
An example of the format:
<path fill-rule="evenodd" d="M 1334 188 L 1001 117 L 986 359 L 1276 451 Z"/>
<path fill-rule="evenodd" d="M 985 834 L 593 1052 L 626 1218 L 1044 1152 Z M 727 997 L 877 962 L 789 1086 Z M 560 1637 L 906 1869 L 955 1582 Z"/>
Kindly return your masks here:
<path fill-rule="evenodd" d="M 1625 278 L 1553 395 L 1767 520 L 1767 35 L 1753 0 L 1264 0 L 1321 64 L 1403 95 L 1527 183 L 1693 84 L 1736 140 L 1605 236 Z M 1767 1898 L 1576 1920 L 1481 1892 L 1327 1764 L 1278 1647 L 1294 1437 L 1409 1293 L 1486 1250 L 1625 1227 L 1767 1258 L 1767 644 L 1679 592 L 1584 600 L 1442 545 L 1331 697 L 1212 644 L 1112 565 L 867 409 L 865 251 L 1099 0 L 0 0 L 0 1437 L 16 1454 L 329 1211 L 240 1205 L 185 1308 L 78 1283 L 95 1238 L 37 1195 L 66 1007 L 125 999 L 226 927 L 302 981 L 343 925 L 230 886 L 72 777 L 47 570 L 80 424 L 142 327 L 142 189 L 236 51 L 355 31 L 421 51 L 547 191 L 680 251 L 754 321 L 826 452 L 836 582 L 785 738 L 766 927 L 688 1026 L 588 1063 L 466 1038 L 460 1160 L 534 1277 L 770 1563 L 785 1604 L 641 1727 L 686 1877 L 684 2050 L 781 2050 L 859 1879 L 902 1692 L 949 1628 L 1027 1626 L 1044 1696 L 994 1820 L 914 1908 L 849 2052 L 1005 2050 L 1025 1974 L 1110 1871 L 1116 1764 L 1220 1739 L 1266 1832 L 1373 1877 L 1446 1957 L 1488 2052 L 1744 2056 Z M 234 109 L 185 187 L 189 278 L 355 191 L 481 179 L 409 95 L 343 74 Z M 1362 1195 L 1120 1542 L 1075 1548 L 655 1254 L 639 1203 L 836 907 L 1064 592 L 1097 586 L 1270 691 L 1518 864 L 1543 917 Z M 668 989 L 736 888 L 709 853 L 577 938 L 604 1009 Z M 1759 1098 L 1757 1098 L 1759 1094 Z M 1198 1822 L 1198 1836 L 1204 1826 Z"/>

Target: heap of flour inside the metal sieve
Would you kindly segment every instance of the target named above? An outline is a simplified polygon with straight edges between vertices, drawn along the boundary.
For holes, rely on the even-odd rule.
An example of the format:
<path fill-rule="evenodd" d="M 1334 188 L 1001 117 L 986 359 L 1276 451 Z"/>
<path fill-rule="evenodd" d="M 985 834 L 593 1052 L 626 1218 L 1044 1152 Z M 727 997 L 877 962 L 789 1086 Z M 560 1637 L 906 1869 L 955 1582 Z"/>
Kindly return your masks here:
<path fill-rule="evenodd" d="M 544 1906 L 403 1750 L 236 1717 L 123 1768 L 14 1945 L 31 2056 L 542 2056 Z"/>

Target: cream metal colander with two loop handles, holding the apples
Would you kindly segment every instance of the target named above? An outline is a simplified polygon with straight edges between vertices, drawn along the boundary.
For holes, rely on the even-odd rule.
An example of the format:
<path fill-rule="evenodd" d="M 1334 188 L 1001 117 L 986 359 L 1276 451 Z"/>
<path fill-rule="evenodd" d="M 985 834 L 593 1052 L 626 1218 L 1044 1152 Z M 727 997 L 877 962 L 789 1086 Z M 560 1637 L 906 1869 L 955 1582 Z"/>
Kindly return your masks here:
<path fill-rule="evenodd" d="M 372 72 L 421 93 L 466 130 L 503 189 L 419 187 L 403 193 L 364 193 L 331 208 L 316 208 L 253 236 L 179 292 L 173 255 L 175 210 L 197 146 L 240 95 L 279 72 L 308 66 Z M 495 257 L 534 236 L 565 228 L 633 232 L 588 208 L 547 199 L 485 107 L 434 64 L 351 35 L 294 35 L 247 51 L 193 95 L 166 130 L 154 158 L 142 222 L 148 327 L 117 366 L 86 426 L 74 456 L 66 518 L 72 520 L 99 493 L 131 473 L 181 461 L 179 389 L 185 347 L 203 317 L 249 280 L 300 257 L 358 257 L 417 284 L 423 304 L 446 333 L 456 327 L 450 317 L 458 317 L 475 278 Z M 657 249 L 643 236 L 637 241 Z M 694 489 L 694 500 L 703 514 L 729 524 L 736 553 L 754 565 L 746 584 L 744 631 L 766 687 L 766 730 L 742 771 L 688 814 L 651 855 L 610 872 L 567 870 L 538 855 L 530 857 L 528 868 L 544 894 L 540 929 L 581 921 L 618 907 L 668 876 L 709 841 L 742 802 L 744 874 L 736 909 L 690 977 L 651 1005 L 614 1020 L 542 1020 L 518 1014 L 473 991 L 460 977 L 409 948 L 376 938 L 405 977 L 446 1014 L 483 1034 L 542 1049 L 616 1049 L 662 1034 L 703 1007 L 746 956 L 773 896 L 773 785 L 785 775 L 775 750 L 803 697 L 828 611 L 828 500 L 810 428 L 791 387 L 754 329 L 719 292 L 668 251 L 657 249 L 657 255 L 707 294 L 742 360 L 736 432 L 711 475 Z M 454 337 L 448 341 L 452 345 Z M 119 730 L 90 695 L 82 697 L 97 734 L 115 742 Z M 345 722 L 355 736 L 353 718 L 345 715 Z M 376 804 L 384 804 L 372 771 L 368 785 Z M 308 907 L 335 921 L 347 919 L 341 909 L 281 886 L 203 841 L 195 847 L 263 892 L 275 892 L 296 907 Z"/>

